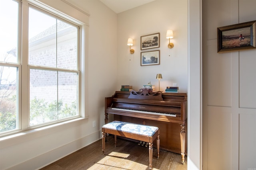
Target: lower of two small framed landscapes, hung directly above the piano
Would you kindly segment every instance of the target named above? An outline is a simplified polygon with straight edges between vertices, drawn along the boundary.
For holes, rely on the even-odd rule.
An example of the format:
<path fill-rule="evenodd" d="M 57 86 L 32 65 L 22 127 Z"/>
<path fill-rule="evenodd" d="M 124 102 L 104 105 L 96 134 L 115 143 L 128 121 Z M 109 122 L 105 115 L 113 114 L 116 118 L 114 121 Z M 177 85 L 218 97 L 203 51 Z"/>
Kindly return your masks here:
<path fill-rule="evenodd" d="M 146 51 L 140 53 L 140 65 L 159 65 L 160 64 L 160 50 Z"/>

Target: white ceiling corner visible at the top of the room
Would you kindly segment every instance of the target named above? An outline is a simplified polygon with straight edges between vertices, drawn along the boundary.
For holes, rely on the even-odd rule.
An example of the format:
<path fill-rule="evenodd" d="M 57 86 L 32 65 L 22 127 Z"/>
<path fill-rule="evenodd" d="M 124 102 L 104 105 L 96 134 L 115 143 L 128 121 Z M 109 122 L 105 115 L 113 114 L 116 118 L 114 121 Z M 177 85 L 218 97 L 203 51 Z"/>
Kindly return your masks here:
<path fill-rule="evenodd" d="M 152 2 L 154 0 L 100 0 L 100 1 L 106 6 L 108 6 L 108 8 L 116 12 L 116 14 L 118 14 L 120 12 L 130 10 L 137 6 L 147 4 L 148 2 Z"/>

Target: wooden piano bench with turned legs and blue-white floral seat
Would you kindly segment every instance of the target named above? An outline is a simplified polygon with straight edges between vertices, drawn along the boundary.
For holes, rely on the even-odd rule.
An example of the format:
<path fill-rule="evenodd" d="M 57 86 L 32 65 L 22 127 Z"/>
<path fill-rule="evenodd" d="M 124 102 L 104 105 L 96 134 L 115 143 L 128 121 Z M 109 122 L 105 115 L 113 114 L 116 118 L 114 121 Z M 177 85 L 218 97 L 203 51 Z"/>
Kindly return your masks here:
<path fill-rule="evenodd" d="M 153 141 L 156 139 L 157 158 L 159 158 L 159 128 L 154 126 L 139 125 L 135 123 L 128 123 L 123 121 L 112 121 L 102 126 L 102 152 L 105 150 L 105 138 L 106 134 L 112 134 L 116 136 L 126 137 L 138 141 L 147 142 L 149 147 L 149 168 L 152 169 L 152 157 L 153 157 Z"/>

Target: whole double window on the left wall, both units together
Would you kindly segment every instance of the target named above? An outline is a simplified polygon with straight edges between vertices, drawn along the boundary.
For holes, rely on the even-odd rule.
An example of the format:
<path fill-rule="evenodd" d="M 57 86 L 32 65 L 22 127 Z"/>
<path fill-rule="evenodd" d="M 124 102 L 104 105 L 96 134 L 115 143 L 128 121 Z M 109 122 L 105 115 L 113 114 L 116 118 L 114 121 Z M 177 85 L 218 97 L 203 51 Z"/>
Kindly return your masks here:
<path fill-rule="evenodd" d="M 80 116 L 80 27 L 31 4 L 21 5 L 18 0 L 0 1 L 0 133 Z M 28 18 L 19 9 L 27 10 Z M 28 37 L 21 36 L 26 32 Z M 19 102 L 22 95 L 28 100 Z"/>

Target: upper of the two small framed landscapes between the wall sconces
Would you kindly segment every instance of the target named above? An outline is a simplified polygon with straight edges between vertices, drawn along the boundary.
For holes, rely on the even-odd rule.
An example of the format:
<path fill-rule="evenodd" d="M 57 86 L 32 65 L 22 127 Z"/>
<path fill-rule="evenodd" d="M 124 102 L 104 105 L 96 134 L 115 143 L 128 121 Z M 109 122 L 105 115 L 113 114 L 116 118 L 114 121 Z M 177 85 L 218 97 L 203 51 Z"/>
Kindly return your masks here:
<path fill-rule="evenodd" d="M 140 49 L 153 49 L 160 47 L 159 45 L 159 38 L 160 33 L 154 33 L 150 35 L 144 35 L 140 37 Z"/>

